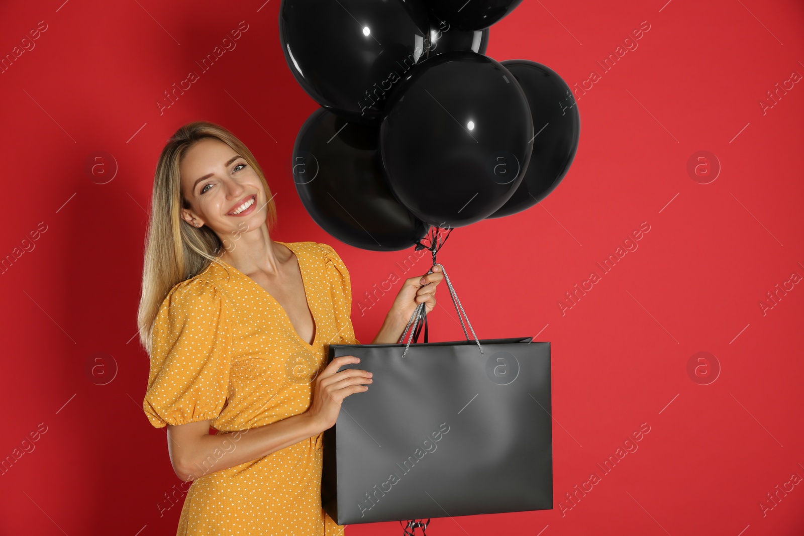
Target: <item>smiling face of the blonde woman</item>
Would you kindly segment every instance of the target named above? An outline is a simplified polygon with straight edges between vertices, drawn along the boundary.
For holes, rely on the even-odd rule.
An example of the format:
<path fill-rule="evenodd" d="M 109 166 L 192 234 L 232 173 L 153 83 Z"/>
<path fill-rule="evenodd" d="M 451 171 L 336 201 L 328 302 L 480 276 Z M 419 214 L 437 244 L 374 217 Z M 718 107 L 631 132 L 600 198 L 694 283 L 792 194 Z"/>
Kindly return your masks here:
<path fill-rule="evenodd" d="M 268 200 L 262 181 L 223 141 L 207 138 L 196 142 L 179 170 L 182 194 L 191 205 L 190 209 L 181 209 L 181 216 L 193 227 L 207 225 L 228 243 L 236 233 L 265 223 Z"/>

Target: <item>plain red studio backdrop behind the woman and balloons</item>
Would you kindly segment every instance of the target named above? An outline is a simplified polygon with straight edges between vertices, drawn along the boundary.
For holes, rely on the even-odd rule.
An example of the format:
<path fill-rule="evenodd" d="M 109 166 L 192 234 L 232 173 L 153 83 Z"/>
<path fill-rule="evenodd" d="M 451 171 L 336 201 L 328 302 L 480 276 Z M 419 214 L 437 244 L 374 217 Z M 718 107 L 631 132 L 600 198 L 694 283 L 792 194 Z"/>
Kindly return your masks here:
<path fill-rule="evenodd" d="M 346 262 L 365 342 L 396 290 L 364 316 L 361 297 L 390 272 L 401 276 L 395 263 L 409 252 L 351 248 L 301 207 L 289 162 L 317 104 L 285 65 L 280 0 L 63 2 L 0 6 L 0 55 L 47 24 L 0 74 L 0 256 L 34 247 L 0 277 L 0 457 L 47 427 L 0 477 L 0 531 L 174 534 L 180 502 L 162 517 L 158 504 L 179 481 L 165 432 L 142 412 L 148 358 L 134 337 L 146 212 L 166 139 L 204 119 L 244 140 L 277 192 L 274 238 L 330 243 Z M 540 206 L 457 228 L 439 255 L 479 337 L 552 342 L 556 507 L 438 518 L 429 534 L 804 531 L 804 485 L 775 505 L 766 496 L 794 473 L 804 477 L 804 284 L 779 293 L 765 314 L 759 305 L 776 284 L 804 276 L 795 156 L 804 84 L 779 92 L 764 113 L 760 104 L 791 73 L 804 74 L 804 9 L 794 0 L 665 2 L 525 0 L 491 28 L 487 54 L 498 61 L 544 63 L 572 87 L 601 75 L 577 100 L 580 146 L 564 182 Z M 248 31 L 236 49 L 160 115 L 163 92 L 198 71 L 195 61 L 240 21 Z M 643 21 L 650 31 L 638 48 L 602 72 L 596 61 Z M 105 184 L 84 172 L 99 150 L 118 167 Z M 699 150 L 722 166 L 708 184 L 687 173 Z M 47 230 L 26 241 L 40 222 Z M 638 249 L 562 314 L 564 293 L 600 272 L 595 263 L 642 222 L 650 231 Z M 427 271 L 423 259 L 414 272 Z M 433 339 L 462 338 L 448 293 L 439 296 Z M 720 363 L 714 383 L 687 373 L 699 351 Z M 116 364 L 112 382 L 90 381 L 95 352 L 109 354 L 109 374 Z M 596 463 L 642 423 L 650 433 L 638 451 L 561 509 L 572 505 L 565 493 L 600 473 Z"/>

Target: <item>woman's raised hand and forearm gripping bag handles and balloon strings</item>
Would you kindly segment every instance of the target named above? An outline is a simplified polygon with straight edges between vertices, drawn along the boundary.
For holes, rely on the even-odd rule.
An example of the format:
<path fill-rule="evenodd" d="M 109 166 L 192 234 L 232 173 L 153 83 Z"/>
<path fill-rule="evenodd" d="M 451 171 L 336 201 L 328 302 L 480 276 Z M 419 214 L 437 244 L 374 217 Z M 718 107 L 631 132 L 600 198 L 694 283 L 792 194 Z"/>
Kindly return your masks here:
<path fill-rule="evenodd" d="M 444 279 L 441 266 L 433 266 L 433 272 L 421 277 L 404 280 L 391 309 L 385 316 L 382 327 L 371 344 L 396 344 L 420 303 L 425 303 L 427 313 L 436 306 L 436 286 Z"/>

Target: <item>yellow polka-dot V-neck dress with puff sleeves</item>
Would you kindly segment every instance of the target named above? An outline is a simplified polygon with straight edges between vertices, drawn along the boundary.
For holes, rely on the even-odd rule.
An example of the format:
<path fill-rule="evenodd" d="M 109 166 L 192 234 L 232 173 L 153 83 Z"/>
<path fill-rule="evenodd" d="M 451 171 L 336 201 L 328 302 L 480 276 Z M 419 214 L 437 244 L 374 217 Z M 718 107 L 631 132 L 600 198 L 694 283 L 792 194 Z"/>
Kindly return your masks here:
<path fill-rule="evenodd" d="M 155 428 L 212 419 L 212 428 L 235 432 L 303 413 L 312 380 L 326 366 L 327 345 L 359 344 L 349 272 L 334 249 L 278 243 L 297 256 L 315 321 L 313 344 L 265 288 L 230 264 L 211 263 L 176 284 L 156 317 L 143 402 Z M 323 432 L 215 470 L 236 448 L 232 440 L 205 462 L 211 473 L 192 482 L 177 536 L 343 535 L 321 507 L 322 440 Z"/>

